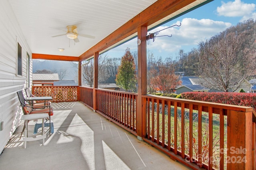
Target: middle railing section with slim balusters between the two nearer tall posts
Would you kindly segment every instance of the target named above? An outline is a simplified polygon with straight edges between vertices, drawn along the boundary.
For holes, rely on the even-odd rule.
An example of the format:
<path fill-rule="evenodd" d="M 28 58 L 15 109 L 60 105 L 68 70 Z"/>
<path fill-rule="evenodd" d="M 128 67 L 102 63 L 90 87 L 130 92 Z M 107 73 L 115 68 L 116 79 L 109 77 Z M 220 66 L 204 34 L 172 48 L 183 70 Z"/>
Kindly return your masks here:
<path fill-rule="evenodd" d="M 137 94 L 114 90 L 97 90 L 97 112 L 136 134 Z"/>

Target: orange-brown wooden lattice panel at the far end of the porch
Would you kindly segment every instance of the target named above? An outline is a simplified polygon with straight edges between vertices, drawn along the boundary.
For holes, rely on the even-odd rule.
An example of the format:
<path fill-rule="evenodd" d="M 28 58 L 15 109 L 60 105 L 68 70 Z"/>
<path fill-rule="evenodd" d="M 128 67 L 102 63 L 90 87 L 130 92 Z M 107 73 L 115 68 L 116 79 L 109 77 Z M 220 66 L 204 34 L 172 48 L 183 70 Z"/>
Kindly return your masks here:
<path fill-rule="evenodd" d="M 33 86 L 34 96 L 52 96 L 52 102 L 78 101 L 78 86 Z"/>

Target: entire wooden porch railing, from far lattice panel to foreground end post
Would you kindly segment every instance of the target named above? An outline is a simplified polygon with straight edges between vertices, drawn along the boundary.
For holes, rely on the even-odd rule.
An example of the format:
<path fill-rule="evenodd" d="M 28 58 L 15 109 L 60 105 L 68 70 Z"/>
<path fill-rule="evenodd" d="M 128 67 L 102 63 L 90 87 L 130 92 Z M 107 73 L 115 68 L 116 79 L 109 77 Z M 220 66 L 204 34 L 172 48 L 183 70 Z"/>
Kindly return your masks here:
<path fill-rule="evenodd" d="M 252 107 L 142 95 L 142 113 L 137 113 L 138 95 L 134 93 L 82 86 L 32 88 L 36 96 L 52 96 L 57 102 L 70 101 L 70 91 L 74 101 L 79 97 L 134 135 L 137 114 L 144 114 L 142 131 L 146 135 L 142 139 L 193 169 L 256 169 L 256 113 Z M 57 94 L 63 95 L 61 100 Z"/>

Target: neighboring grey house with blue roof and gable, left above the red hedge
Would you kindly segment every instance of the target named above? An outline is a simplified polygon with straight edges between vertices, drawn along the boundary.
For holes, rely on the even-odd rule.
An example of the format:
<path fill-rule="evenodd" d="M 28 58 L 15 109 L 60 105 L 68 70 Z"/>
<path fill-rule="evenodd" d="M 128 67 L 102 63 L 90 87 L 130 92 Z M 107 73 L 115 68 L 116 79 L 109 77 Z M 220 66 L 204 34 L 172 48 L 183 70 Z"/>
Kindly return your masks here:
<path fill-rule="evenodd" d="M 183 92 L 209 92 L 210 89 L 203 87 L 198 77 L 194 76 L 182 76 L 182 85 L 175 88 L 176 94 Z"/>

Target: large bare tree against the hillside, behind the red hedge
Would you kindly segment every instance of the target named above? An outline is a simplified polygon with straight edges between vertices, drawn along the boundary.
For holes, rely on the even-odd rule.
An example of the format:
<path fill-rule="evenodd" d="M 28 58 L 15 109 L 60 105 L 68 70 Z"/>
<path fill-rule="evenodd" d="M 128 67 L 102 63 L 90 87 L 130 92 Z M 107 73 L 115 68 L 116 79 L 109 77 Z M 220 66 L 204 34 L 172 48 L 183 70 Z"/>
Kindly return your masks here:
<path fill-rule="evenodd" d="M 242 87 L 255 72 L 255 51 L 245 48 L 243 33 L 222 33 L 200 43 L 198 73 L 203 85 L 224 92 Z"/>

